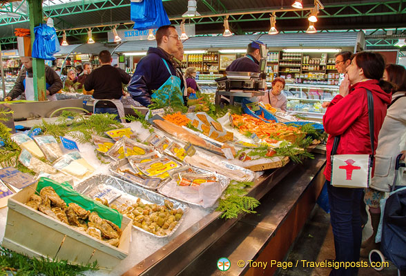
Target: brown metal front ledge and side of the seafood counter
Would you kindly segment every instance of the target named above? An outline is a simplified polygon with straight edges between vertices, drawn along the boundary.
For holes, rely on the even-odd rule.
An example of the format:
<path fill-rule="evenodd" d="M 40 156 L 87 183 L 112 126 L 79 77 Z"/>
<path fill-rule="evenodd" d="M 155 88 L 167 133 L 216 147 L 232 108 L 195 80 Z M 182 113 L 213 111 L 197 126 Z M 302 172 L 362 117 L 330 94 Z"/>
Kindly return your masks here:
<path fill-rule="evenodd" d="M 227 275 L 257 275 L 247 266 L 238 267 L 237 261 L 284 258 L 320 194 L 325 159 L 316 154 L 303 164 L 289 162 L 283 168 L 267 170 L 248 194 L 263 198 L 257 214 L 221 219 L 220 212 L 213 212 L 124 275 L 220 275 L 216 267 L 220 257 L 231 260 Z M 286 227 L 294 228 L 288 231 L 289 237 L 284 237 Z M 281 244 L 282 240 L 287 242 Z"/>

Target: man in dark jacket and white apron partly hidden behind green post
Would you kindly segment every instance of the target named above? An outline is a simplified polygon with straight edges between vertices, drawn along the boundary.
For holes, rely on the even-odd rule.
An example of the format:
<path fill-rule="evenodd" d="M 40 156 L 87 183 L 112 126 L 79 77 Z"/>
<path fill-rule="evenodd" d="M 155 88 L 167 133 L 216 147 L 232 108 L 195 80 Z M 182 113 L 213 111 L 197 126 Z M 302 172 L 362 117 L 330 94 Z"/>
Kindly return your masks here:
<path fill-rule="evenodd" d="M 32 76 L 32 57 L 21 57 L 23 68 L 20 70 L 14 87 L 8 92 L 5 101 L 11 101 L 25 94 L 28 101 L 34 101 L 34 84 Z M 62 89 L 62 81 L 57 72 L 45 66 L 46 97 L 51 101 L 56 101 L 56 93 Z"/>

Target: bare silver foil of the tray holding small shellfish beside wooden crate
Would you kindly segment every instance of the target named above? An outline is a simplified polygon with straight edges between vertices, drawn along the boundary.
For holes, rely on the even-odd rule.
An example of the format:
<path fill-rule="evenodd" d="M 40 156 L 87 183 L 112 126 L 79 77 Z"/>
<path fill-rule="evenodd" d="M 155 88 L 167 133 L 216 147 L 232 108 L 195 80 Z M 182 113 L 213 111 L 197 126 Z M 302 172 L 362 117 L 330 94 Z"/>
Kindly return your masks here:
<path fill-rule="evenodd" d="M 184 217 L 189 210 L 189 207 L 186 206 L 186 204 L 182 204 L 179 201 L 170 199 L 168 197 L 164 197 L 163 195 L 154 193 L 151 190 L 144 189 L 142 187 L 131 184 L 127 181 L 124 181 L 117 177 L 113 177 L 111 175 L 94 175 L 93 177 L 90 177 L 90 178 L 86 179 L 85 181 L 82 181 L 79 184 L 77 184 L 75 186 L 75 190 L 77 190 L 77 192 L 79 192 L 83 195 L 88 195 L 88 193 L 90 193 L 91 190 L 93 190 L 100 184 L 112 186 L 113 188 L 117 188 L 117 190 L 124 192 L 124 195 L 122 197 L 124 199 L 127 199 L 128 201 L 132 201 L 132 200 L 135 201 L 137 198 L 139 198 L 139 199 L 142 199 L 142 201 L 148 202 L 151 204 L 164 205 L 164 201 L 168 200 L 173 203 L 173 208 L 176 208 L 176 209 L 181 208 L 183 210 L 184 215 L 182 215 L 182 218 L 179 221 L 177 221 L 175 228 L 173 228 L 173 230 L 170 233 L 168 233 L 168 235 L 165 235 L 165 236 L 155 235 L 151 232 L 148 232 L 142 228 L 139 228 L 139 227 L 133 225 L 133 227 L 136 228 L 137 230 L 140 230 L 140 231 L 147 233 L 149 235 L 152 235 L 154 237 L 170 237 L 171 235 L 173 235 L 173 233 L 175 233 L 177 228 L 179 228 L 180 224 L 182 224 L 182 222 L 184 221 Z M 116 201 L 120 202 L 120 197 L 118 199 L 116 199 Z M 113 204 L 115 204 L 116 201 L 113 201 Z"/>

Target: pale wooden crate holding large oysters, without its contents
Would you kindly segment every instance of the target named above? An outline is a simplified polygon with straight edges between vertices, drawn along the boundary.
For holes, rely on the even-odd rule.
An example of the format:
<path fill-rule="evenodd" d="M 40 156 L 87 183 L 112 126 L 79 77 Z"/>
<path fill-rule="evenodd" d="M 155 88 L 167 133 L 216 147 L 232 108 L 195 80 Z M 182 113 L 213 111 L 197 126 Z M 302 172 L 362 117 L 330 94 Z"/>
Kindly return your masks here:
<path fill-rule="evenodd" d="M 75 230 L 25 205 L 35 193 L 37 183 L 8 199 L 6 233 L 2 245 L 29 257 L 67 260 L 70 264 L 91 264 L 112 270 L 128 255 L 133 221 L 122 219 L 118 248 Z"/>

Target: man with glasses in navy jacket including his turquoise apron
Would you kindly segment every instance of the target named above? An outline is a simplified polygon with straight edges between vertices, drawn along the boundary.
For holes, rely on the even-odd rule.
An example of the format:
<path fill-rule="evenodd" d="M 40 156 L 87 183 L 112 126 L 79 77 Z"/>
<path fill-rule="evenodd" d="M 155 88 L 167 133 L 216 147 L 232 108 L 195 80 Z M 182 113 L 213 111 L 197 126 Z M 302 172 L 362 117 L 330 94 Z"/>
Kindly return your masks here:
<path fill-rule="evenodd" d="M 175 93 L 183 102 L 184 81 L 177 76 L 172 53 L 180 48 L 174 26 L 162 26 L 155 32 L 157 48 L 150 47 L 135 68 L 128 92 L 135 101 L 149 106 L 153 98 L 167 99 Z"/>

